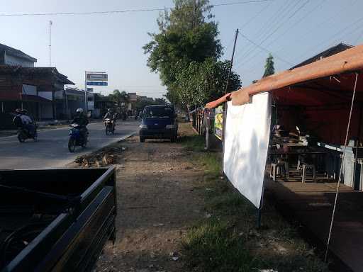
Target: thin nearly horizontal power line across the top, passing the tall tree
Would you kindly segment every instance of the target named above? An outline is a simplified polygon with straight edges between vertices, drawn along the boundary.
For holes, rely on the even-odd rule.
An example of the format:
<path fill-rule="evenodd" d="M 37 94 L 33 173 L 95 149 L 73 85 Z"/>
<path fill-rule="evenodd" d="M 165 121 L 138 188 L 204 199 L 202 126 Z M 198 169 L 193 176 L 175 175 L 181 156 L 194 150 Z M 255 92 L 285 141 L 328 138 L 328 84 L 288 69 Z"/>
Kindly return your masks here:
<path fill-rule="evenodd" d="M 234 6 L 241 4 L 259 3 L 275 0 L 250 0 L 250 1 L 236 1 L 224 4 L 211 4 L 211 6 Z M 90 14 L 112 14 L 112 13 L 135 13 L 135 12 L 147 12 L 147 11 L 164 11 L 173 10 L 174 8 L 140 8 L 140 9 L 124 9 L 119 11 L 77 11 L 77 12 L 48 12 L 48 13 L 2 13 L 0 16 L 64 16 L 64 15 L 90 15 Z"/>

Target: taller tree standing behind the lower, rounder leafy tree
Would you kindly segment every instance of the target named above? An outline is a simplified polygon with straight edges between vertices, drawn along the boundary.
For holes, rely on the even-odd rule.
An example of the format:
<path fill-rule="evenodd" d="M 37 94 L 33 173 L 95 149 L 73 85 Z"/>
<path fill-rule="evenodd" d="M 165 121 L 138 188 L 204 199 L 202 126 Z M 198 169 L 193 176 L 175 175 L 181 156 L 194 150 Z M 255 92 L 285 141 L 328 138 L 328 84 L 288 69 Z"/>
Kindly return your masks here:
<path fill-rule="evenodd" d="M 189 69 L 191 62 L 204 62 L 207 58 L 218 59 L 222 52 L 218 40 L 218 24 L 206 21 L 211 15 L 208 0 L 174 0 L 175 8 L 164 11 L 157 19 L 159 33 L 149 33 L 152 40 L 144 45 L 149 54 L 147 66 L 160 75 L 167 86 L 167 98 L 180 103 L 177 75 Z"/>

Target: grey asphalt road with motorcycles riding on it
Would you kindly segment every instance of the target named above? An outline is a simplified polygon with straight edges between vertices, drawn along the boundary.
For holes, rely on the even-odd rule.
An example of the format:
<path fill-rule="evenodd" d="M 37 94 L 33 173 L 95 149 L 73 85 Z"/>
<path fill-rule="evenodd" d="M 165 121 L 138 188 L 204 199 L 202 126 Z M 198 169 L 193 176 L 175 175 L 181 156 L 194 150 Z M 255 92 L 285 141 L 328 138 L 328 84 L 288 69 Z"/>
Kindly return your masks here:
<path fill-rule="evenodd" d="M 68 150 L 69 128 L 57 128 L 38 132 L 38 142 L 18 142 L 16 136 L 0 137 L 0 169 L 60 168 L 73 162 L 80 154 L 93 152 L 112 142 L 123 140 L 138 131 L 139 122 L 118 120 L 115 135 L 105 135 L 103 123 L 91 123 L 89 142 L 85 149 Z"/>

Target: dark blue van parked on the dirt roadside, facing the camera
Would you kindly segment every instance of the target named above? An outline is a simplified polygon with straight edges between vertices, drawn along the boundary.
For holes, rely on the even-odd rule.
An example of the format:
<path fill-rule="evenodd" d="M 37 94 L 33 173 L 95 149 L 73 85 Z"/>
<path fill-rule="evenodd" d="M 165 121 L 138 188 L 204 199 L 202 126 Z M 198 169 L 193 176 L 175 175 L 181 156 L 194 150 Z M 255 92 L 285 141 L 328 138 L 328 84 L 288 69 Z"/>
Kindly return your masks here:
<path fill-rule="evenodd" d="M 145 142 L 145 139 L 170 139 L 175 142 L 178 137 L 178 123 L 174 108 L 168 105 L 146 106 L 139 135 L 140 142 Z"/>

